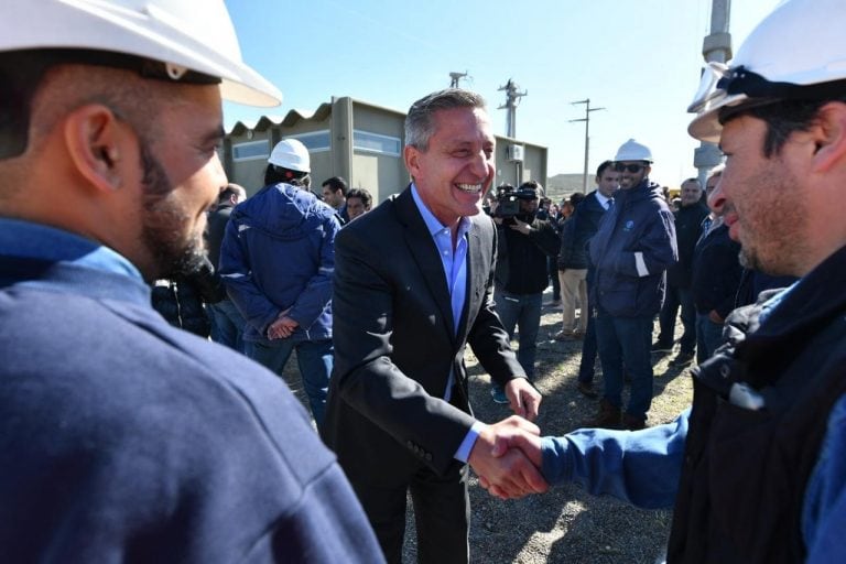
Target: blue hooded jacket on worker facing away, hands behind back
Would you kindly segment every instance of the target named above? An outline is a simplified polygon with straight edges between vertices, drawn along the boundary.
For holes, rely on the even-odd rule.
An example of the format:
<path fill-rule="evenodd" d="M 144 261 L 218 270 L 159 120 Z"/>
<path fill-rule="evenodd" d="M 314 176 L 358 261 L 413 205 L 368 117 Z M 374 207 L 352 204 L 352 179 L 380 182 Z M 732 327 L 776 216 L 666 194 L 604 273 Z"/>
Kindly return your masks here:
<path fill-rule="evenodd" d="M 295 341 L 332 338 L 335 210 L 307 189 L 272 184 L 236 206 L 220 248 L 220 275 L 247 319 L 245 340 L 273 344 L 268 326 L 288 311 Z"/>

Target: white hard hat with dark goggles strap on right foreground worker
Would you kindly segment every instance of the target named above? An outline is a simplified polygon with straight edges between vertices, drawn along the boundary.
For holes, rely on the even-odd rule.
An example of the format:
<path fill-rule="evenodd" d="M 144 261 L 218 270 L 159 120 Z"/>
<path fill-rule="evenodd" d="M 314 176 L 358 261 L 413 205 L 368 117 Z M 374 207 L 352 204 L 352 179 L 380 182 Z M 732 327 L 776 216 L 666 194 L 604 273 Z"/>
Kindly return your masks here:
<path fill-rule="evenodd" d="M 717 142 L 719 110 L 756 99 L 826 99 L 846 94 L 843 0 L 789 0 L 752 30 L 730 65 L 709 63 L 687 111 L 687 132 Z"/>

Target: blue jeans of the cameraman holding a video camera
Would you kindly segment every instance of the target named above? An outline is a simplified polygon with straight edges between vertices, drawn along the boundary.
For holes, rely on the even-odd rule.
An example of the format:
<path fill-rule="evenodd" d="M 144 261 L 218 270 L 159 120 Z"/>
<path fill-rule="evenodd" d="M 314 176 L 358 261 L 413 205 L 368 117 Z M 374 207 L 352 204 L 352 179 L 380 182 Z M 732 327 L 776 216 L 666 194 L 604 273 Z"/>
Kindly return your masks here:
<path fill-rule="evenodd" d="M 497 313 L 508 338 L 514 336 L 514 327 L 520 326 L 517 360 L 525 370 L 529 379 L 534 378 L 534 357 L 538 351 L 538 329 L 541 326 L 541 306 L 543 294 L 512 294 L 497 289 L 494 292 Z"/>

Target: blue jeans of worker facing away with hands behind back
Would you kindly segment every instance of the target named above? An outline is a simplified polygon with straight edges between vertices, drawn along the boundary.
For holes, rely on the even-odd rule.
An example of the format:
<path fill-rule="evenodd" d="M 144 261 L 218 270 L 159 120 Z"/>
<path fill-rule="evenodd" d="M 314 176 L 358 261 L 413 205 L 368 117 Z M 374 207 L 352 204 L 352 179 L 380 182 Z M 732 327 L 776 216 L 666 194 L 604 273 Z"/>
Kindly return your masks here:
<path fill-rule="evenodd" d="M 308 397 L 312 415 L 319 429 L 326 412 L 326 392 L 334 361 L 335 347 L 332 339 L 300 340 L 274 339 L 273 345 L 247 341 L 247 356 L 278 375 L 282 375 L 291 352 L 296 349 L 300 377 Z"/>

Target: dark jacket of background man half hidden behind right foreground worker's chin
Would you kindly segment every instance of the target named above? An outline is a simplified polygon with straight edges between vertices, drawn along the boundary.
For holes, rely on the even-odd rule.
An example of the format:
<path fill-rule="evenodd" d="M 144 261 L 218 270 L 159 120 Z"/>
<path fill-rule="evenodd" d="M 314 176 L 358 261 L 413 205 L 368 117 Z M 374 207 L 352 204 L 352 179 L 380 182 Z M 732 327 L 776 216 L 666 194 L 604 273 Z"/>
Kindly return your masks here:
<path fill-rule="evenodd" d="M 740 243 L 728 237 L 726 225 L 717 227 L 696 245 L 691 292 L 697 313 L 708 314 L 715 310 L 725 319 L 735 308 L 742 272 L 739 253 Z"/>

